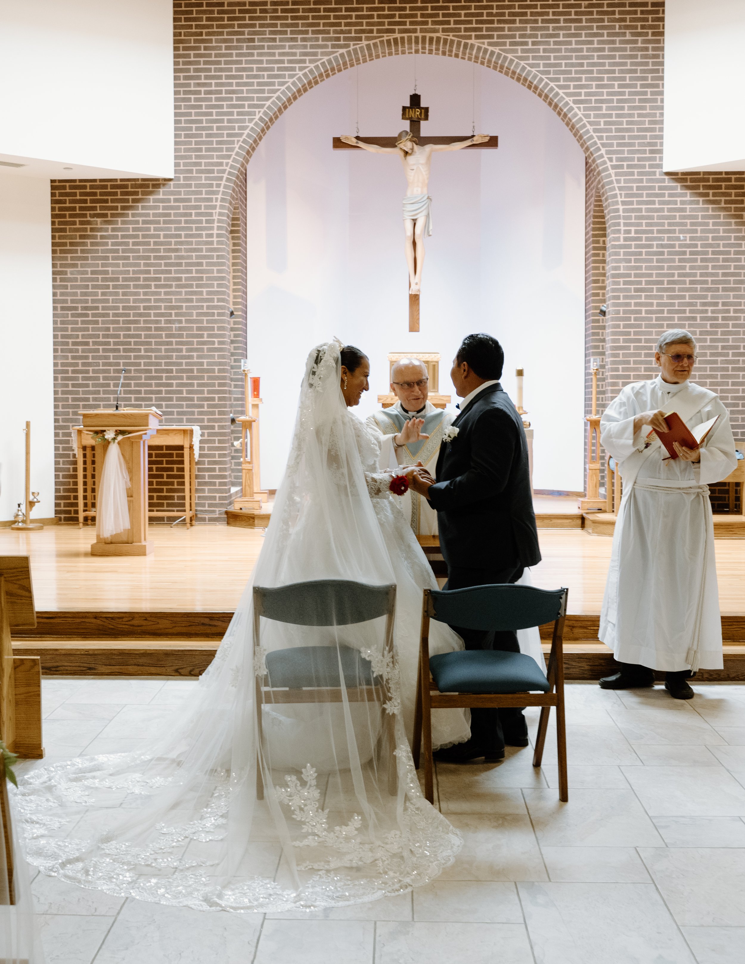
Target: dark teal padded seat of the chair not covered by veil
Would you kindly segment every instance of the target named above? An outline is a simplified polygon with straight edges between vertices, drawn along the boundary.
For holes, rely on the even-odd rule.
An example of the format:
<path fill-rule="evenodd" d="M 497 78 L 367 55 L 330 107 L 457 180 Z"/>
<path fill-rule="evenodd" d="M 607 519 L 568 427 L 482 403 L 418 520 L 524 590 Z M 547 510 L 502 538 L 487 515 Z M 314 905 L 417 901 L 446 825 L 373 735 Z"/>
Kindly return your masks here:
<path fill-rule="evenodd" d="M 440 693 L 547 693 L 538 663 L 524 653 L 462 650 L 430 656 L 430 672 Z"/>

